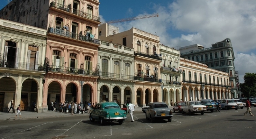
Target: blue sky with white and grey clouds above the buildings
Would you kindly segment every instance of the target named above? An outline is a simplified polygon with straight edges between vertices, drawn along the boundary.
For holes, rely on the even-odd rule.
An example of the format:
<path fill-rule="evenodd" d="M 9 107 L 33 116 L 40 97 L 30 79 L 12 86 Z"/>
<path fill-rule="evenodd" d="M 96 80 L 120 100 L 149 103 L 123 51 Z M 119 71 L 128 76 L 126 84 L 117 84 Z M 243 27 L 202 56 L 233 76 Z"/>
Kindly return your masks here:
<path fill-rule="evenodd" d="M 0 9 L 8 0 L 0 0 Z M 158 17 L 114 23 L 120 32 L 132 27 L 158 35 L 160 43 L 179 49 L 205 48 L 230 38 L 240 83 L 256 69 L 256 0 L 100 0 L 101 22 L 157 14 Z"/>

